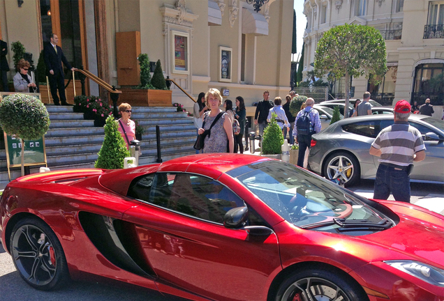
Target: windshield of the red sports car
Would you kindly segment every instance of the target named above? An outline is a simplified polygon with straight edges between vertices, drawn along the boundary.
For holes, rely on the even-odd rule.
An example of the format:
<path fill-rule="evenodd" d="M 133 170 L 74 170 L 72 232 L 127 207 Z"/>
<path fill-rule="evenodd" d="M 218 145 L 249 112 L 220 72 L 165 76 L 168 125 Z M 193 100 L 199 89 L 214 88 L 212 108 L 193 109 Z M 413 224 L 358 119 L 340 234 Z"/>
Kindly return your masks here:
<path fill-rule="evenodd" d="M 230 171 L 231 173 L 231 171 Z M 373 233 L 368 225 L 390 220 L 351 192 L 318 176 L 281 161 L 239 167 L 235 174 L 251 192 L 288 222 L 304 229 L 349 235 Z M 231 173 L 232 174 L 232 173 Z M 360 224 L 354 231 L 342 224 Z M 392 226 L 392 222 L 389 222 Z M 379 229 L 381 230 L 381 229 Z"/>

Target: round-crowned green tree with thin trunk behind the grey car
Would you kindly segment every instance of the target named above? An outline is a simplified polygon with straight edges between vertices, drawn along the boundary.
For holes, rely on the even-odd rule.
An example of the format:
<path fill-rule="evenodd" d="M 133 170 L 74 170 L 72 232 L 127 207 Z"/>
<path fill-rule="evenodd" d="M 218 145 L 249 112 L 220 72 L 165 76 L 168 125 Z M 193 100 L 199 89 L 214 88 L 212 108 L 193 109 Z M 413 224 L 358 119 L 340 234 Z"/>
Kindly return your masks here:
<path fill-rule="evenodd" d="M 321 76 L 332 72 L 336 79 L 345 77 L 344 117 L 348 116 L 350 77 L 366 75 L 368 79 L 382 78 L 387 72 L 386 57 L 383 36 L 371 26 L 336 26 L 319 40 L 315 54 L 316 74 Z"/>

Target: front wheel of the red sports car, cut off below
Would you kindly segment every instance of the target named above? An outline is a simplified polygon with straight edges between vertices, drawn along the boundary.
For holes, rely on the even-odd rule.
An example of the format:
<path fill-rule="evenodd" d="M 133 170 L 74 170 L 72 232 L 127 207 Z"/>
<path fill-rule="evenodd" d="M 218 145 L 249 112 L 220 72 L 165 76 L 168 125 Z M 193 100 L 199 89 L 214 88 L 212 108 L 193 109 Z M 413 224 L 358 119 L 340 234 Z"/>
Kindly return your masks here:
<path fill-rule="evenodd" d="M 328 270 L 301 270 L 283 281 L 276 301 L 364 301 L 367 295 L 357 284 L 350 283 Z"/>

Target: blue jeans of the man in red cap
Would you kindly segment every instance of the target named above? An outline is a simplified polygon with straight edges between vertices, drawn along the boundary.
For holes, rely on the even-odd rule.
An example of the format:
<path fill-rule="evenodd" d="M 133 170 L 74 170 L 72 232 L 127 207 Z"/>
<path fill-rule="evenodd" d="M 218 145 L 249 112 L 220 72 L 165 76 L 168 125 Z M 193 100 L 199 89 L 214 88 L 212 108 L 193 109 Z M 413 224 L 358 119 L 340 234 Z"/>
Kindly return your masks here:
<path fill-rule="evenodd" d="M 388 199 L 390 192 L 395 200 L 410 203 L 410 176 L 405 170 L 379 164 L 373 199 Z"/>

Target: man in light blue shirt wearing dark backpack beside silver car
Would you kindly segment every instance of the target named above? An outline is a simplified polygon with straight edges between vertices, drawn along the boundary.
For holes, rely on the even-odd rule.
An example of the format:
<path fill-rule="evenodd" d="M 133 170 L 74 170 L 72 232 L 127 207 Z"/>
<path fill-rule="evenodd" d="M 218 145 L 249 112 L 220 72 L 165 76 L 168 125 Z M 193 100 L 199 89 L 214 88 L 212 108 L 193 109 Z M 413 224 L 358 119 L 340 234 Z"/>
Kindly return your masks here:
<path fill-rule="evenodd" d="M 313 109 L 313 98 L 307 98 L 306 107 L 297 113 L 293 137 L 295 143 L 299 144 L 299 155 L 297 157 L 297 166 L 304 167 L 304 157 L 306 148 L 310 148 L 311 135 L 320 132 L 320 118 L 316 109 Z"/>

